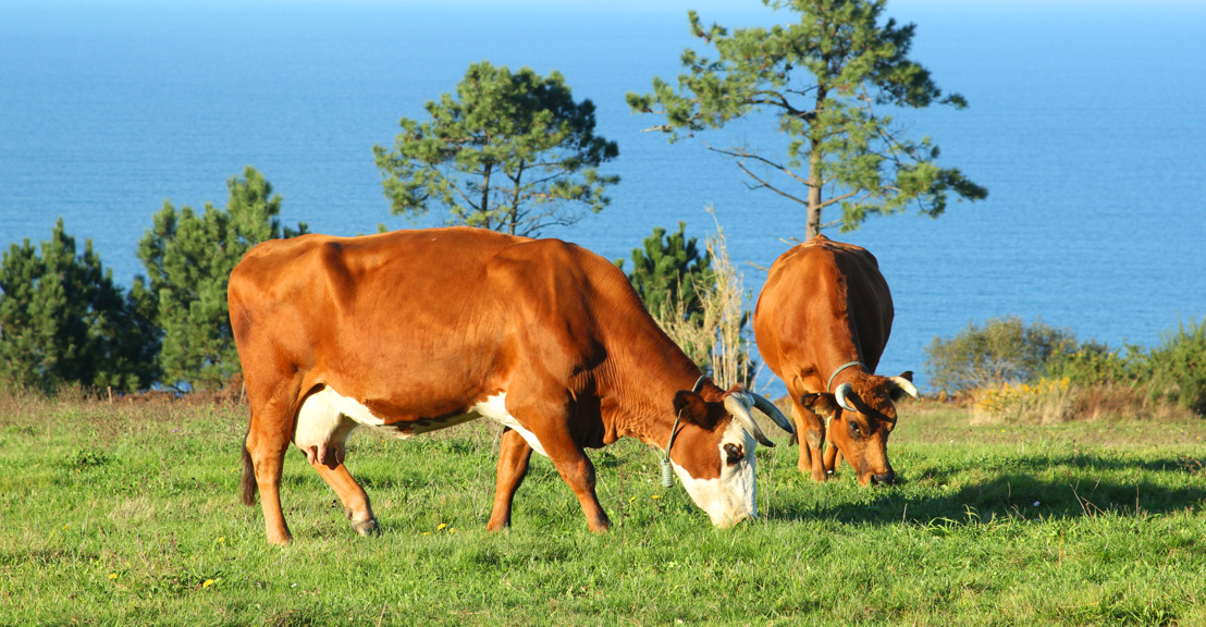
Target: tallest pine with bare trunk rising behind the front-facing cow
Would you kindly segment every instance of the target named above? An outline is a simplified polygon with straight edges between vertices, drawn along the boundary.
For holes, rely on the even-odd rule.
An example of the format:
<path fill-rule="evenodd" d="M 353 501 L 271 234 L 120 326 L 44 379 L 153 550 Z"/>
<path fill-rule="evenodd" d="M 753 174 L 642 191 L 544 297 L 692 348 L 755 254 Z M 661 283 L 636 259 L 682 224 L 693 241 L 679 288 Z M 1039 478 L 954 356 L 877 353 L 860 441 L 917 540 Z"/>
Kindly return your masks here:
<path fill-rule="evenodd" d="M 950 194 L 978 200 L 988 191 L 954 168 L 937 165 L 938 147 L 911 140 L 892 111 L 933 104 L 967 106 L 943 95 L 930 72 L 908 58 L 914 25 L 880 22 L 886 0 L 762 0 L 798 20 L 730 34 L 704 27 L 691 11 L 691 31 L 715 47 L 714 59 L 683 53 L 677 89 L 654 78 L 650 94 L 630 93 L 628 105 L 660 113 L 671 141 L 759 112 L 775 118 L 784 150 L 712 147 L 753 180 L 806 209 L 804 236 L 841 225 L 859 228 L 872 213 L 917 207 L 937 217 Z M 781 178 L 775 178 L 774 176 Z M 825 210 L 836 217 L 822 221 Z"/>

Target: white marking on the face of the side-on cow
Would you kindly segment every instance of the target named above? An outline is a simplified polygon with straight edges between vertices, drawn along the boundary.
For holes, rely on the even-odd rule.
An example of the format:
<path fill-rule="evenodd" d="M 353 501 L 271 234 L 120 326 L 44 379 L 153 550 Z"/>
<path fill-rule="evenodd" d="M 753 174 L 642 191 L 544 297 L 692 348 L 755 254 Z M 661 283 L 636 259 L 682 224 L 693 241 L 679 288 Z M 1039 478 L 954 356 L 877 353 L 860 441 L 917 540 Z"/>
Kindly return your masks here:
<path fill-rule="evenodd" d="M 726 463 L 726 444 L 736 444 L 745 451 L 745 458 L 730 465 Z M 674 471 L 683 487 L 703 511 L 708 512 L 716 527 L 730 527 L 745 518 L 757 517 L 757 493 L 754 475 L 754 447 L 757 441 L 745 429 L 732 422 L 725 429 L 725 435 L 716 446 L 720 458 L 719 479 L 695 479 L 679 464 Z"/>

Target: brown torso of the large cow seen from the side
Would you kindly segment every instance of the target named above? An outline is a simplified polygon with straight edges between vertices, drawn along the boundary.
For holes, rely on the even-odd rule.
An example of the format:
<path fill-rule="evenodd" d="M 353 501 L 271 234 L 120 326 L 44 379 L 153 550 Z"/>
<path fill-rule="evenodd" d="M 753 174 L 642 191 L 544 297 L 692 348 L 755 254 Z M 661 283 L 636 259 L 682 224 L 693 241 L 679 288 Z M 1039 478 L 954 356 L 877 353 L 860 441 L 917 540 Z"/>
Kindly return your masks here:
<path fill-rule="evenodd" d="M 599 316 L 644 311 L 584 248 L 470 228 L 264 242 L 232 274 L 230 304 L 245 369 L 273 359 L 303 391 L 397 420 L 459 411 L 535 369 L 564 385 L 607 356 Z"/>

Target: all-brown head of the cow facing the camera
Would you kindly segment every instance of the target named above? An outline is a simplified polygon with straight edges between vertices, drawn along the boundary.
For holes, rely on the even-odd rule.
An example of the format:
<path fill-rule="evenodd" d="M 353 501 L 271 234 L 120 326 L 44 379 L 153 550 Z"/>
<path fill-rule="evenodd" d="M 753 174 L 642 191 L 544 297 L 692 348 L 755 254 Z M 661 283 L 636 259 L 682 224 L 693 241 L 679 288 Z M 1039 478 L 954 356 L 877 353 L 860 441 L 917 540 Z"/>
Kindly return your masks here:
<path fill-rule="evenodd" d="M 896 481 L 888 462 L 888 435 L 896 428 L 896 402 L 904 394 L 917 398 L 913 373 L 860 377 L 842 383 L 832 394 L 804 394 L 800 404 L 825 418 L 826 438 L 849 462 L 860 484 L 886 485 Z"/>

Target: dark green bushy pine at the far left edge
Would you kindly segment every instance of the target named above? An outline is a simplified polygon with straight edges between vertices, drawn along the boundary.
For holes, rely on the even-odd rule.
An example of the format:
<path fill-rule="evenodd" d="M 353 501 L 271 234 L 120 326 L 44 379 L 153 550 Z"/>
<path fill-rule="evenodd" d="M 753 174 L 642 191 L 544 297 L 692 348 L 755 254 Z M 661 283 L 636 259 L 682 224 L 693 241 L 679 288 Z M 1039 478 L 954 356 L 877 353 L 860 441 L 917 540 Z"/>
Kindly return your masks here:
<path fill-rule="evenodd" d="M 125 295 L 63 218 L 41 254 L 24 240 L 0 266 L 0 380 L 52 393 L 64 385 L 139 389 L 156 379 L 157 338 L 140 282 Z"/>

